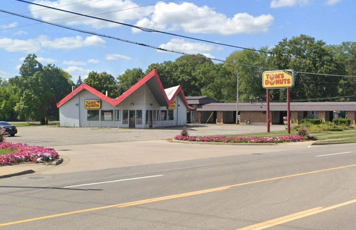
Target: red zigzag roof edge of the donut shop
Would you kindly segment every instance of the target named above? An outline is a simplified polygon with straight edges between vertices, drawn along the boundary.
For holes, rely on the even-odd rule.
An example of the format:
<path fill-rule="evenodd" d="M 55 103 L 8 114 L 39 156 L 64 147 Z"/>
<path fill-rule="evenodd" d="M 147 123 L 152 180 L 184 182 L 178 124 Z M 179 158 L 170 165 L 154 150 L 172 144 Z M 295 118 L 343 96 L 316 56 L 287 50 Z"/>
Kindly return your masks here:
<path fill-rule="evenodd" d="M 160 89 L 160 94 L 161 96 L 163 96 L 163 101 L 167 104 L 170 105 L 172 103 L 172 101 L 174 101 L 175 97 L 177 95 L 180 95 L 182 100 L 184 101 L 185 105 L 187 106 L 188 109 L 193 109 L 192 107 L 190 107 L 188 105 L 187 99 L 184 95 L 184 92 L 182 90 L 181 85 L 176 89 L 175 93 L 173 94 L 173 97 L 169 100 L 167 97 L 166 92 L 164 91 L 162 82 L 158 76 L 158 73 L 156 71 L 156 69 L 152 70 L 149 74 L 147 74 L 146 76 L 144 76 L 141 80 L 139 80 L 136 84 L 132 85 L 132 87 L 130 89 L 128 89 L 125 93 L 123 93 L 120 97 L 112 99 L 109 98 L 107 96 L 105 96 L 104 94 L 102 94 L 101 92 L 97 91 L 96 89 L 94 89 L 93 87 L 91 87 L 90 85 L 87 85 L 85 83 L 82 83 L 81 85 L 79 85 L 79 87 L 77 87 L 74 91 L 72 91 L 70 94 L 68 94 L 66 97 L 64 97 L 60 102 L 57 103 L 57 107 L 61 107 L 62 105 L 64 105 L 67 101 L 69 101 L 70 99 L 72 99 L 75 95 L 77 95 L 78 93 L 80 93 L 83 90 L 87 90 L 89 92 L 91 92 L 92 94 L 94 94 L 95 96 L 99 97 L 100 99 L 106 101 L 107 103 L 113 105 L 113 106 L 117 106 L 118 104 L 120 104 L 122 101 L 124 101 L 127 97 L 129 97 L 132 93 L 134 93 L 136 90 L 138 90 L 142 85 L 144 85 L 145 83 L 147 83 L 147 81 L 154 79 L 156 80 L 156 84 L 158 85 L 158 88 Z M 154 92 L 153 92 L 154 93 Z"/>

